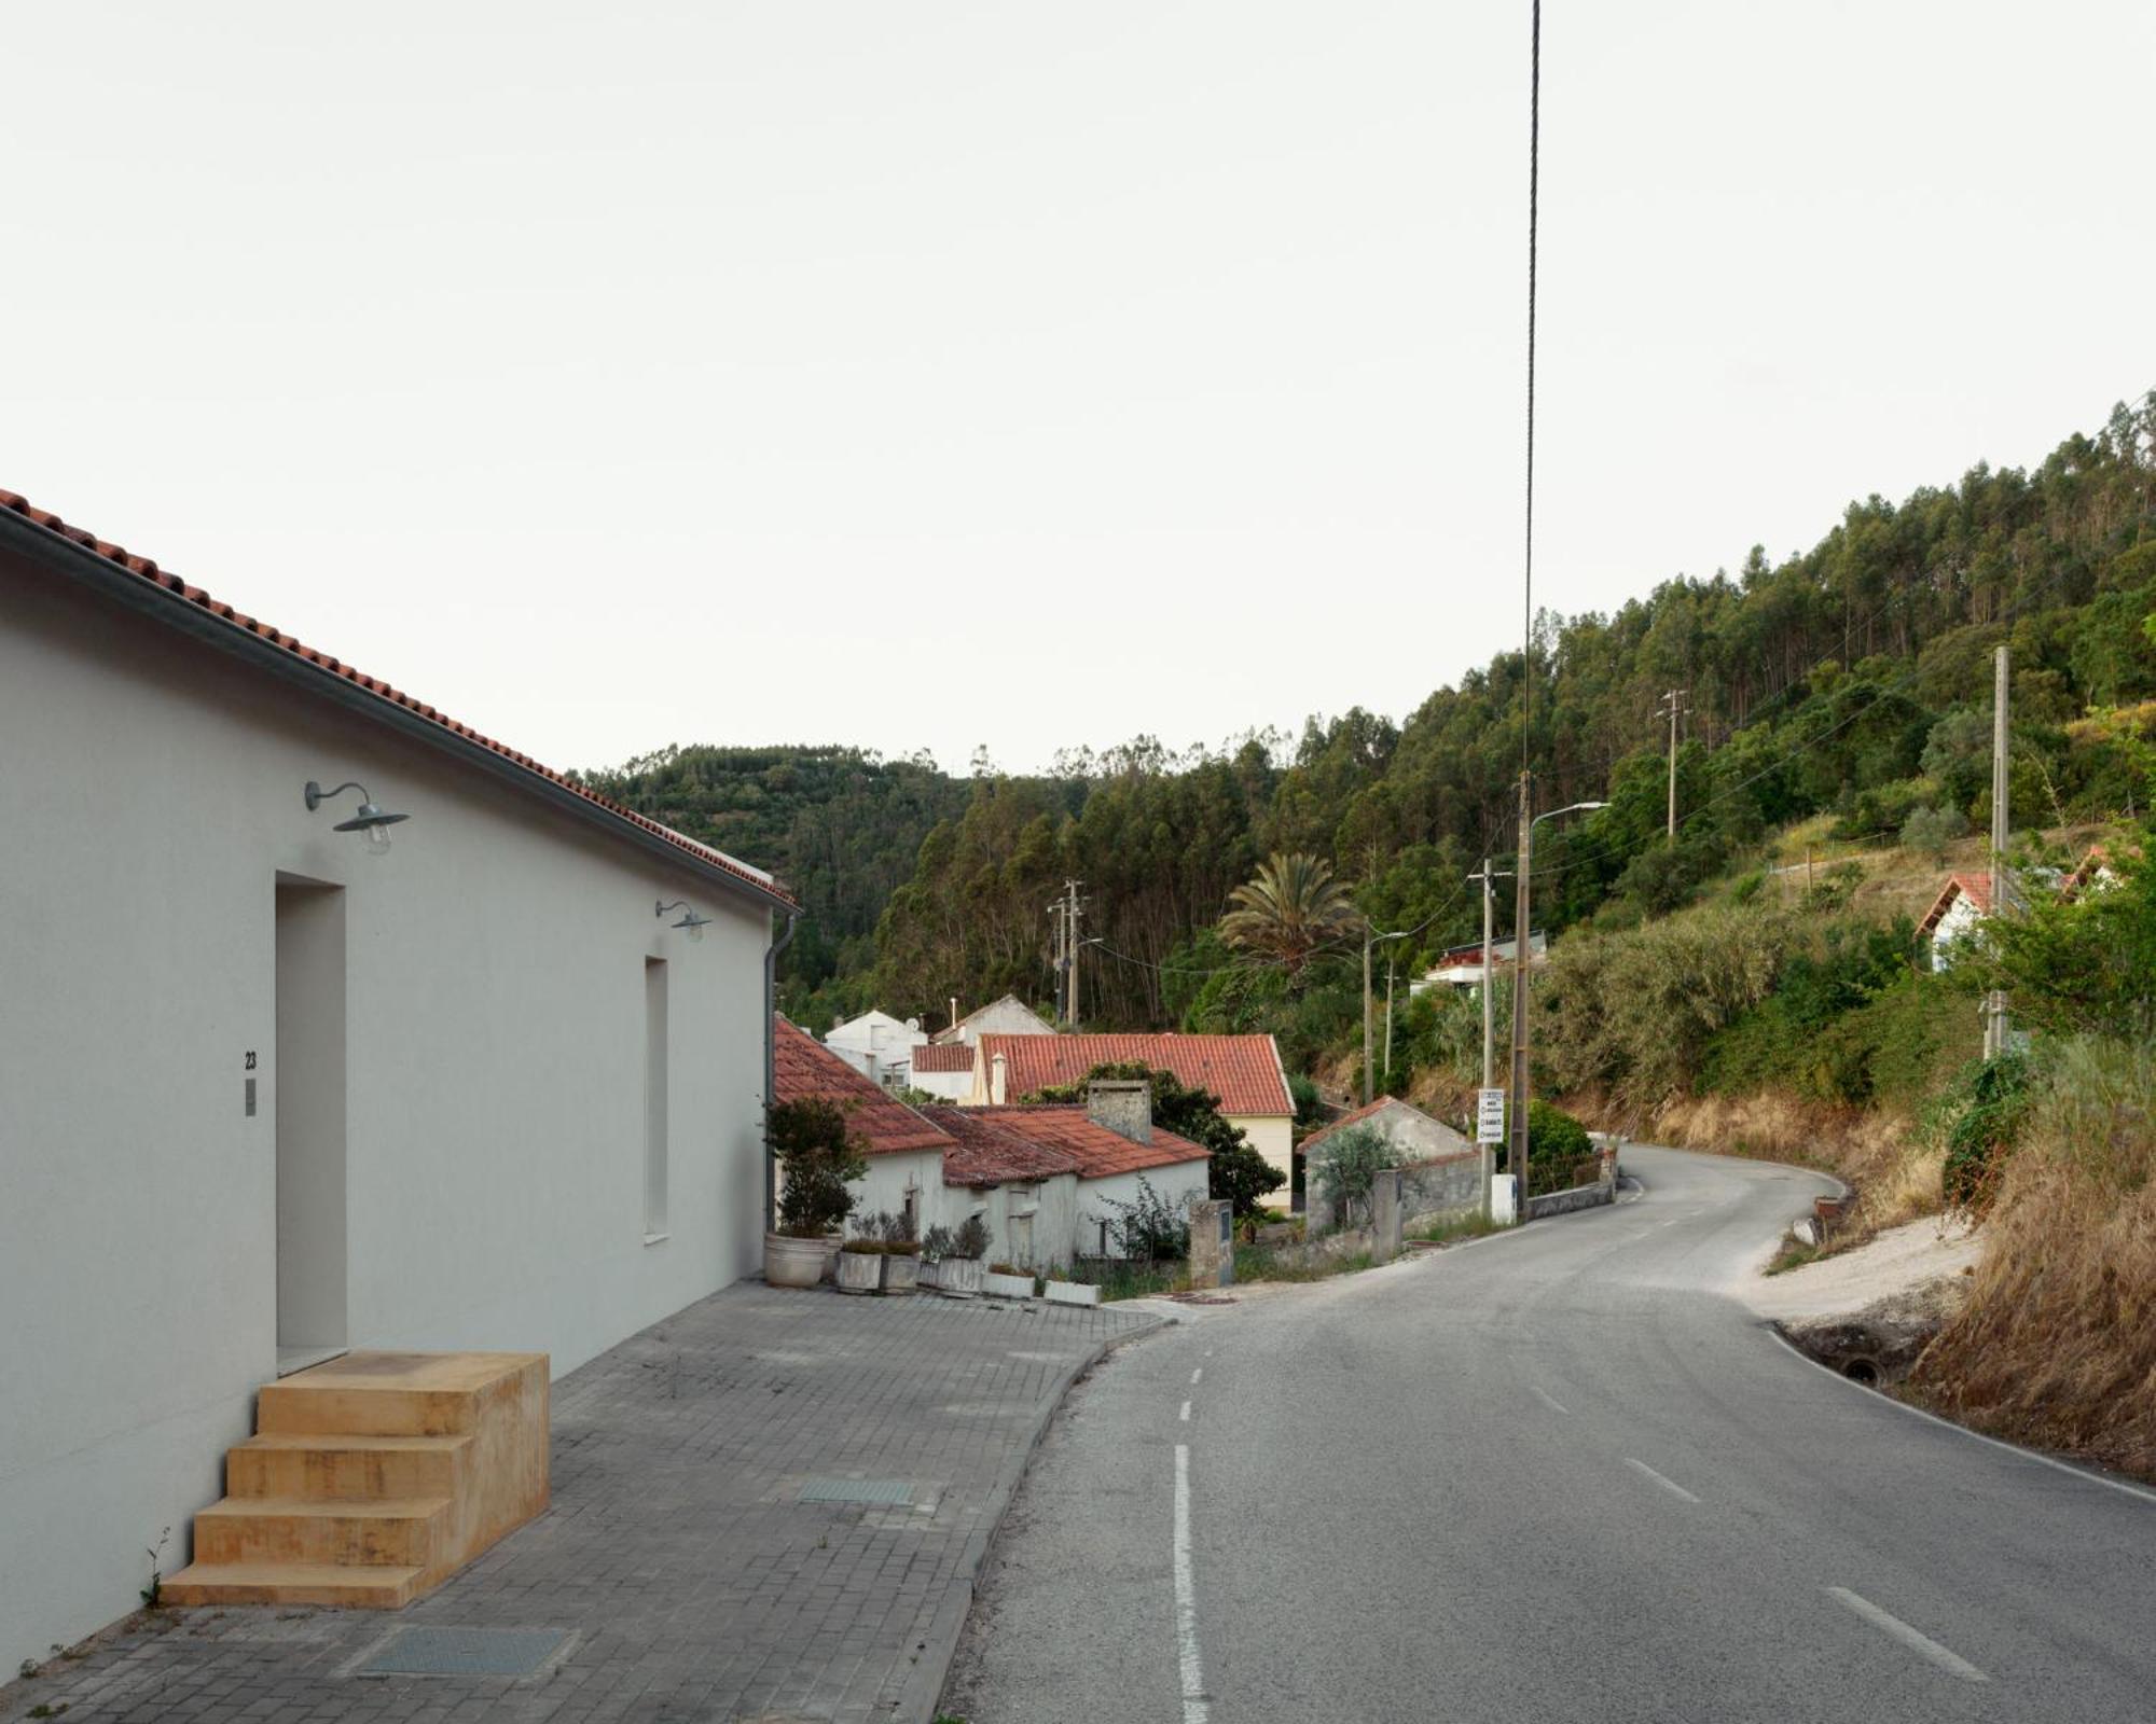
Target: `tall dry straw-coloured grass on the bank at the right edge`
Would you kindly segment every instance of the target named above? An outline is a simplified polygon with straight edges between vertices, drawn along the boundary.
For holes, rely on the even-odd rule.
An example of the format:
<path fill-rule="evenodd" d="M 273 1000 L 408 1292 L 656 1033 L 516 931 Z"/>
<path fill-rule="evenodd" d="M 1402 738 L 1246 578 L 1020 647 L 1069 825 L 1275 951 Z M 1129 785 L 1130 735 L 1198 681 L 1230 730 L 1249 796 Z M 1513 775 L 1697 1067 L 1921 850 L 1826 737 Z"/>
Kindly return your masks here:
<path fill-rule="evenodd" d="M 2156 1478 L 2156 1049 L 2065 1049 L 1986 1235 L 1915 1399 Z"/>

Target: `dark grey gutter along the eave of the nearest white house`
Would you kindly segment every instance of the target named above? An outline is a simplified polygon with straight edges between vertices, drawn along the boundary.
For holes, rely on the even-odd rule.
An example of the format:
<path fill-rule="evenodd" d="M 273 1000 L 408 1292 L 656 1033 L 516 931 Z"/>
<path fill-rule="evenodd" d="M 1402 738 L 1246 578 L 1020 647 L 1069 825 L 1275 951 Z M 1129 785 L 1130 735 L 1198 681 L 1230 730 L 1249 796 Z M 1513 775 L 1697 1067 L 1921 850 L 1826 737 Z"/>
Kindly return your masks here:
<path fill-rule="evenodd" d="M 220 653 L 231 653 L 257 670 L 267 670 L 272 677 L 280 677 L 295 687 L 323 696 L 360 718 L 401 731 L 429 748 L 455 756 L 464 765 L 481 767 L 511 789 L 535 795 L 541 802 L 552 804 L 558 812 L 571 815 L 584 825 L 602 830 L 608 838 L 632 843 L 658 860 L 671 862 L 677 868 L 688 868 L 690 873 L 701 875 L 714 886 L 722 886 L 750 903 L 768 909 L 783 909 L 789 916 L 798 914 L 798 905 L 783 892 L 765 890 L 757 886 L 757 881 L 731 873 L 729 868 L 703 862 L 692 851 L 666 843 L 655 832 L 645 832 L 640 825 L 617 819 L 599 804 L 586 802 L 576 791 L 543 778 L 530 767 L 496 754 L 492 748 L 481 748 L 479 743 L 459 737 L 446 724 L 425 718 L 423 713 L 414 713 L 407 707 L 399 707 L 395 700 L 384 700 L 373 690 L 351 683 L 319 664 L 310 664 L 298 653 L 278 646 L 274 640 L 263 640 L 261 636 L 224 621 L 213 610 L 190 603 L 170 588 L 157 586 L 155 582 L 132 573 L 110 558 L 99 556 L 91 547 L 78 545 L 67 534 L 54 532 L 26 515 L 17 515 L 13 509 L 0 509 L 0 547 L 15 547 L 99 597 L 114 599 L 127 610 L 164 623 L 166 627 L 175 627 L 181 634 L 194 636 L 203 644 L 216 646 Z"/>

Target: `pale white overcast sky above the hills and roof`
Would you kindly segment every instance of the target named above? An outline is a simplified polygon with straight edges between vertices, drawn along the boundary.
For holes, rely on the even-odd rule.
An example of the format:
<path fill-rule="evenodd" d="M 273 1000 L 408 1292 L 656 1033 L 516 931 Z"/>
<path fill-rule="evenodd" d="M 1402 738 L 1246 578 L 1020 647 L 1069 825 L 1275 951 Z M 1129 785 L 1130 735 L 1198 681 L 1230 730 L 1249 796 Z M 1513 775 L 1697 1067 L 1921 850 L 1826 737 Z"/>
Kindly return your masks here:
<path fill-rule="evenodd" d="M 1516 642 L 1526 0 L 17 4 L 0 487 L 552 765 Z M 1557 0 L 1537 599 L 2156 386 L 2147 0 Z"/>

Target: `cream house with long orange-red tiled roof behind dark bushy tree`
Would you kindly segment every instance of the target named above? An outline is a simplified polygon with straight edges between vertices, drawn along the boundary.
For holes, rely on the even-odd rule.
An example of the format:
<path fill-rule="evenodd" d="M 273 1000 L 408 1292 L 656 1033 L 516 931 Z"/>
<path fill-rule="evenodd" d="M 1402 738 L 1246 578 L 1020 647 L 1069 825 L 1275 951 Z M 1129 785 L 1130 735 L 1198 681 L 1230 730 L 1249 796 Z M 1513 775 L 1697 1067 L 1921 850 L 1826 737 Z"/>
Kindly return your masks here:
<path fill-rule="evenodd" d="M 1035 1090 L 1080 1084 L 1097 1065 L 1143 1065 L 1220 1097 L 1220 1116 L 1283 1174 L 1268 1202 L 1287 1209 L 1296 1099 L 1272 1037 L 1229 1034 L 983 1034 L 975 1047 L 968 1108 L 1024 1101 Z"/>

